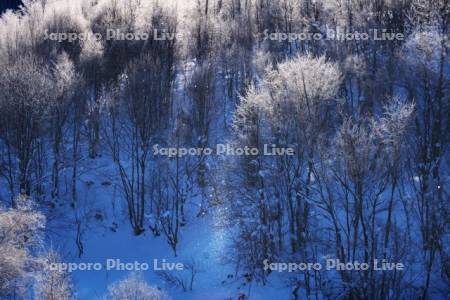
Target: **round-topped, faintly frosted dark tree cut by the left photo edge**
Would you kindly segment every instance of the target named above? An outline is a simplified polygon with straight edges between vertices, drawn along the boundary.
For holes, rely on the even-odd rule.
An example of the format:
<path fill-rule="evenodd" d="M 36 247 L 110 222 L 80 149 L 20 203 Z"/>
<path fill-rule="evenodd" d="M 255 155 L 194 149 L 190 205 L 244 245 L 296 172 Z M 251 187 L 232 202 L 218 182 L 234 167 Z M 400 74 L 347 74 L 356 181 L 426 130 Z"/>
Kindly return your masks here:
<path fill-rule="evenodd" d="M 0 71 L 0 172 L 11 196 L 32 191 L 32 163 L 55 96 L 53 86 L 49 68 L 35 56 L 5 62 Z"/>

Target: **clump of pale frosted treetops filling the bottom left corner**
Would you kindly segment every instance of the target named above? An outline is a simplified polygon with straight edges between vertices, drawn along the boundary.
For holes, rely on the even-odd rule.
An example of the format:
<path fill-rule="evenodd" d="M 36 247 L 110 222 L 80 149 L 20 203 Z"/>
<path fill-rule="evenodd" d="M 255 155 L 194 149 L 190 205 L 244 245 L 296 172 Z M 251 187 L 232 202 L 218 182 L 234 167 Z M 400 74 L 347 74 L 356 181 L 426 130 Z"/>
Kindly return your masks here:
<path fill-rule="evenodd" d="M 0 296 L 73 299 L 69 275 L 49 267 L 60 262 L 59 255 L 42 252 L 45 216 L 26 195 L 17 197 L 15 203 L 16 208 L 0 207 Z"/>

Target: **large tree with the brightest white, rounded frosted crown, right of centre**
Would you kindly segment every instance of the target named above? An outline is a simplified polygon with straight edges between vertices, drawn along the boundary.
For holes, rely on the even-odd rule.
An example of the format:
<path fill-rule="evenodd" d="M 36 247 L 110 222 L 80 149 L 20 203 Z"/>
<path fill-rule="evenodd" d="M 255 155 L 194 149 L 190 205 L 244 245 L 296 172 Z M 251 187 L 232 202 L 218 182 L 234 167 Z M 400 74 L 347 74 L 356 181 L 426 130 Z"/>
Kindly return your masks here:
<path fill-rule="evenodd" d="M 308 259 L 315 151 L 327 133 L 328 111 L 340 83 L 336 64 L 324 57 L 298 56 L 267 69 L 262 82 L 249 88 L 236 109 L 237 145 L 257 147 L 260 153 L 263 144 L 295 146 L 296 152 L 292 157 L 242 159 L 244 174 L 251 179 L 246 183 L 248 194 L 240 188 L 235 197 L 242 199 L 231 206 L 242 221 L 236 247 L 243 255 L 238 257 L 252 261 L 246 265 L 250 273 L 264 257 L 272 259 L 284 252 L 285 230 L 291 253 L 300 251 L 301 259 Z M 276 173 L 271 174 L 273 168 Z"/>

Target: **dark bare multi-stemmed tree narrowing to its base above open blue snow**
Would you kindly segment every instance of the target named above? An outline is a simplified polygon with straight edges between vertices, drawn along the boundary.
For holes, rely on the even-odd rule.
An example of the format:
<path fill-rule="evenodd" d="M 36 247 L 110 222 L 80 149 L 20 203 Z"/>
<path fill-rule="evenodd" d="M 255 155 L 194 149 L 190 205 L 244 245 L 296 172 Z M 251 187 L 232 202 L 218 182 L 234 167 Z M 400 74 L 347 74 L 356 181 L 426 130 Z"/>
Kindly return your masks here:
<path fill-rule="evenodd" d="M 152 138 L 164 128 L 169 117 L 174 51 L 173 42 L 154 45 L 133 61 L 121 81 L 123 101 L 110 106 L 108 122 L 111 126 L 105 134 L 122 180 L 130 222 L 137 235 L 144 231 Z M 124 159 L 130 161 L 130 166 Z"/>

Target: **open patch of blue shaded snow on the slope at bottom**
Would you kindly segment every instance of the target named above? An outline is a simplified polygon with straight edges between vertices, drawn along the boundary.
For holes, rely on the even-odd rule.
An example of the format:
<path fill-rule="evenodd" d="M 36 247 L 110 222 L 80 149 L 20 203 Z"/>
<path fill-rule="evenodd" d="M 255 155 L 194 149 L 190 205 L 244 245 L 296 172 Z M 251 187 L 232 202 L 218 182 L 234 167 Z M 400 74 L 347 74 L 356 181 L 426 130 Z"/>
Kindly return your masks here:
<path fill-rule="evenodd" d="M 78 265 L 101 263 L 101 270 L 75 270 L 71 273 L 75 290 L 79 299 L 100 299 L 110 284 L 127 277 L 130 270 L 107 270 L 108 260 L 120 260 L 120 263 L 146 263 L 149 270 L 137 271 L 153 286 L 165 290 L 172 299 L 223 300 L 237 299 L 241 293 L 250 299 L 289 299 L 289 290 L 283 283 L 267 286 L 242 286 L 241 281 L 234 280 L 235 270 L 226 262 L 232 249 L 229 247 L 229 230 L 224 226 L 223 217 L 226 210 L 220 205 L 211 207 L 206 214 L 198 214 L 199 199 L 187 202 L 187 225 L 182 228 L 181 240 L 177 256 L 163 235 L 155 237 L 150 230 L 135 236 L 126 218 L 125 202 L 120 194 L 118 181 L 109 177 L 114 174 L 114 165 L 103 156 L 89 160 L 84 167 L 85 175 L 79 184 L 81 201 L 94 214 L 83 210 L 82 215 L 94 216 L 83 219 L 82 238 L 83 254 L 79 257 L 76 247 L 77 233 L 72 229 L 61 230 L 57 227 L 64 220 L 55 218 L 48 224 L 49 244 L 63 254 L 63 263 Z M 105 182 L 110 182 L 106 185 Z M 96 215 L 96 212 L 101 212 Z M 165 282 L 154 271 L 154 263 L 158 266 L 165 260 L 168 263 L 195 264 L 196 274 L 193 290 L 183 291 Z M 189 283 L 189 270 L 173 271 Z"/>

